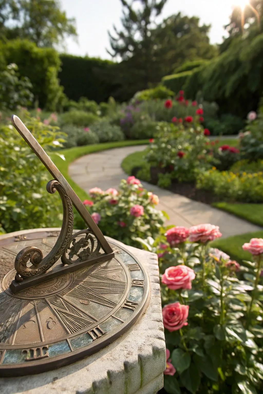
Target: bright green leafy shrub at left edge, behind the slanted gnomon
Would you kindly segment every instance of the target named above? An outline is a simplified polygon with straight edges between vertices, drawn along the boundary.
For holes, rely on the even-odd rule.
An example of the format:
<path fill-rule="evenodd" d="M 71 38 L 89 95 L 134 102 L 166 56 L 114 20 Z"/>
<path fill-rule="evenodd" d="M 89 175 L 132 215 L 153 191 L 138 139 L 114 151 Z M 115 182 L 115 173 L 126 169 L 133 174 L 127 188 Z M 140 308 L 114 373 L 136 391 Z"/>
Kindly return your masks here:
<path fill-rule="evenodd" d="M 58 128 L 26 112 L 20 116 L 45 150 L 63 141 Z M 0 227 L 6 232 L 56 227 L 62 212 L 58 193 L 47 193 L 48 171 L 11 125 L 0 126 L 0 162 Z"/>

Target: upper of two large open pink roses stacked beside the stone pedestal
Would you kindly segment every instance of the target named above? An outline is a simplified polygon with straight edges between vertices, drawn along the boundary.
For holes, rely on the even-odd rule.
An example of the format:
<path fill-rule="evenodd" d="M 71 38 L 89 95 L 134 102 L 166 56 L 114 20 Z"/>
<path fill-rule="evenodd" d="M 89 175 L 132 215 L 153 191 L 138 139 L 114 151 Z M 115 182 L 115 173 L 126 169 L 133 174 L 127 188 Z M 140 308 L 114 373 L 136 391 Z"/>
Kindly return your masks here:
<path fill-rule="evenodd" d="M 162 283 L 171 290 L 191 289 L 192 280 L 196 277 L 194 270 L 184 265 L 169 267 L 162 275 Z"/>

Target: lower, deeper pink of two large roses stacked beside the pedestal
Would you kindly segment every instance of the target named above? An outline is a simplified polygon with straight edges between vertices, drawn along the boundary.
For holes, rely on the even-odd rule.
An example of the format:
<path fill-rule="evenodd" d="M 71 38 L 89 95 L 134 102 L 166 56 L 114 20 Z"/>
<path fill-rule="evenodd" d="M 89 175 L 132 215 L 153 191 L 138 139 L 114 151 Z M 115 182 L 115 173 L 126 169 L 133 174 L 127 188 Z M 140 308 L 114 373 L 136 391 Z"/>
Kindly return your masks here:
<path fill-rule="evenodd" d="M 162 319 L 164 328 L 168 329 L 170 333 L 177 331 L 184 325 L 188 325 L 189 305 L 181 305 L 179 302 L 168 304 L 162 308 Z"/>

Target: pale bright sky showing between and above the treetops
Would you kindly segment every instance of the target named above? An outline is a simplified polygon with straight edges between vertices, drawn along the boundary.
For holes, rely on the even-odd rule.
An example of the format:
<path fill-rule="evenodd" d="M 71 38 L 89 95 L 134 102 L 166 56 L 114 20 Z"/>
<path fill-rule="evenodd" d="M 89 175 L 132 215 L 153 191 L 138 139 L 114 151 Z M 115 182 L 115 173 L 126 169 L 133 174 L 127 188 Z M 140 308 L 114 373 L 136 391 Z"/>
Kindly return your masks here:
<path fill-rule="evenodd" d="M 244 0 L 243 0 L 244 1 Z M 75 17 L 78 39 L 67 38 L 65 50 L 69 54 L 101 59 L 111 59 L 106 52 L 110 49 L 108 30 L 113 24 L 121 28 L 120 0 L 60 0 L 62 9 L 68 18 Z M 168 0 L 159 17 L 159 21 L 179 11 L 188 16 L 200 17 L 201 23 L 211 24 L 210 41 L 222 42 L 226 32 L 224 25 L 229 21 L 233 4 L 242 0 Z"/>

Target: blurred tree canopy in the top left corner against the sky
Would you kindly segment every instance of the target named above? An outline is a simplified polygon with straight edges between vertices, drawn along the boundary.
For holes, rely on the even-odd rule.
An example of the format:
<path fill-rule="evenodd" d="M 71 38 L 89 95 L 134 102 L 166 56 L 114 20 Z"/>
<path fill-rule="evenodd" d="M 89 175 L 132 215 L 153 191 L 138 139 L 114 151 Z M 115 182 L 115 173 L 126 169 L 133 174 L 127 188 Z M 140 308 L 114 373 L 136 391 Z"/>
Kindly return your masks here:
<path fill-rule="evenodd" d="M 76 36 L 75 19 L 68 19 L 58 0 L 0 0 L 0 37 L 30 39 L 37 46 L 54 46 L 66 35 Z"/>

